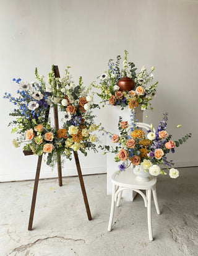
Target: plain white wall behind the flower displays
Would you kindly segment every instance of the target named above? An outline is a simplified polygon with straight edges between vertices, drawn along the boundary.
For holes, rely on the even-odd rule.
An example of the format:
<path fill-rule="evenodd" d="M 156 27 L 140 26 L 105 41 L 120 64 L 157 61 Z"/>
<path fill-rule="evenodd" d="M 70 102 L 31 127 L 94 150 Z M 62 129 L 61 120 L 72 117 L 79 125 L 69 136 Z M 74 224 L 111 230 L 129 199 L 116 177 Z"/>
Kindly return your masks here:
<path fill-rule="evenodd" d="M 197 165 L 197 56 L 198 2 L 174 0 L 1 0 L 0 1 L 0 95 L 14 93 L 13 77 L 34 79 L 37 66 L 47 74 L 58 64 L 63 74 L 67 65 L 77 81 L 94 80 L 106 68 L 109 58 L 129 51 L 137 68 L 155 66 L 159 81 L 149 118 L 157 125 L 161 113 L 169 112 L 169 127 L 183 124 L 179 136 L 191 131 L 193 138 L 175 153 L 180 166 Z M 1 99 L 0 180 L 31 179 L 37 157 L 24 157 L 12 146 L 7 123 L 12 104 Z M 98 121 L 105 117 L 98 112 Z M 173 131 L 173 134 L 176 133 Z M 179 138 L 175 136 L 174 138 Z M 105 156 L 93 153 L 82 161 L 82 171 L 103 172 Z M 22 173 L 22 174 L 20 174 Z M 64 175 L 74 174 L 67 161 Z M 56 175 L 43 164 L 41 177 Z"/>

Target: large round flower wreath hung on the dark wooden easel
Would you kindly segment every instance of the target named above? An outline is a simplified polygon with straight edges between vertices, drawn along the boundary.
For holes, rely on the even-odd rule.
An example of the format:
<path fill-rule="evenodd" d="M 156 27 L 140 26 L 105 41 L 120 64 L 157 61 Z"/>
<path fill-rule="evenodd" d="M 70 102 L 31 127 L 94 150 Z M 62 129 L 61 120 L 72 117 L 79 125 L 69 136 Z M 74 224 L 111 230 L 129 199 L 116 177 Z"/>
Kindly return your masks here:
<path fill-rule="evenodd" d="M 18 86 L 17 97 L 7 92 L 4 95 L 15 105 L 9 114 L 15 120 L 9 126 L 14 126 L 11 133 L 19 136 L 12 143 L 16 148 L 24 144 L 24 154 L 48 154 L 46 163 L 49 166 L 53 166 L 58 154 L 71 159 L 72 151 L 81 151 L 85 156 L 87 149 L 97 151 L 97 136 L 92 133 L 99 125 L 93 121 L 92 109 L 98 105 L 93 104 L 93 96 L 89 95 L 92 84 L 85 88 L 80 77 L 79 84 L 75 86 L 68 69 L 64 77 L 56 78 L 52 67 L 48 82 L 45 82 L 36 68 L 38 82 L 30 84 L 13 79 Z M 64 123 L 63 128 L 56 131 L 48 120 L 48 114 L 49 107 L 58 106 L 64 111 Z"/>

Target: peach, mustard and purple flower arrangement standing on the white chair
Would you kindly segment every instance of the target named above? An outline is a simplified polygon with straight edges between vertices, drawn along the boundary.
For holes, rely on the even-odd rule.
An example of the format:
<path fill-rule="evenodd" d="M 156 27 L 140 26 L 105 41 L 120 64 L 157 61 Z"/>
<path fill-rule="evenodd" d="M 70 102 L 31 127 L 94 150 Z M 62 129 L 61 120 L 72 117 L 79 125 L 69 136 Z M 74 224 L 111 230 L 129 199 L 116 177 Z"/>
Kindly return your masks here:
<path fill-rule="evenodd" d="M 191 138 L 191 133 L 178 139 L 178 141 L 173 141 L 172 135 L 166 131 L 168 113 L 163 114 L 163 119 L 159 122 L 157 131 L 153 132 L 153 126 L 151 125 L 152 129 L 147 130 L 147 135 L 139 129 L 134 120 L 133 113 L 131 113 L 131 125 L 119 117 L 119 135 L 106 132 L 104 128 L 101 128 L 103 132 L 110 136 L 111 141 L 118 145 L 115 148 L 100 146 L 101 149 L 105 149 L 103 154 L 106 154 L 106 152 L 116 154 L 114 161 L 121 162 L 118 166 L 119 171 L 126 170 L 132 164 L 133 166 L 138 166 L 137 170 L 141 167 L 145 172 L 149 172 L 150 175 L 157 176 L 166 174 L 160 167 L 163 166 L 168 169 L 171 178 L 177 178 L 179 171 L 170 168 L 174 163 L 173 161 L 168 161 L 166 155 L 169 152 L 174 153 L 176 147 Z M 175 128 L 180 127 L 181 125 L 178 125 Z"/>

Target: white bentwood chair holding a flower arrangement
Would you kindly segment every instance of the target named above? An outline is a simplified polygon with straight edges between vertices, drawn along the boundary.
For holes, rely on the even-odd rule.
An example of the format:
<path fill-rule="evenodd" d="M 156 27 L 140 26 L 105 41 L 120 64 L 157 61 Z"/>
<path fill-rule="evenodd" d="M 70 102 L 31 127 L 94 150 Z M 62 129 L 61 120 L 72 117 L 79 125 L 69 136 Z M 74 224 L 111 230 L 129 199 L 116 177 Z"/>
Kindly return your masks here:
<path fill-rule="evenodd" d="M 150 125 L 146 123 L 136 123 L 136 126 L 139 128 L 144 128 L 146 130 L 153 130 Z M 127 133 L 131 132 L 131 127 L 127 128 Z M 142 198 L 144 199 L 145 207 L 147 207 L 147 219 L 148 219 L 148 227 L 149 227 L 149 240 L 153 241 L 153 232 L 152 232 L 152 219 L 151 219 L 151 200 L 152 200 L 152 193 L 153 199 L 155 203 L 155 208 L 157 213 L 160 214 L 160 209 L 158 206 L 157 200 L 157 192 L 156 192 L 156 185 L 157 185 L 157 177 L 151 176 L 148 182 L 142 182 L 136 179 L 136 175 L 133 173 L 132 168 L 126 169 L 125 172 L 119 173 L 118 171 L 114 172 L 111 177 L 111 182 L 113 185 L 112 190 L 112 198 L 111 198 L 111 213 L 110 213 L 110 221 L 108 224 L 108 231 L 111 231 L 112 224 L 113 224 L 113 215 L 114 215 L 114 205 L 120 205 L 120 200 L 122 196 L 123 190 L 132 190 L 139 193 Z M 146 195 L 141 191 L 145 190 Z"/>

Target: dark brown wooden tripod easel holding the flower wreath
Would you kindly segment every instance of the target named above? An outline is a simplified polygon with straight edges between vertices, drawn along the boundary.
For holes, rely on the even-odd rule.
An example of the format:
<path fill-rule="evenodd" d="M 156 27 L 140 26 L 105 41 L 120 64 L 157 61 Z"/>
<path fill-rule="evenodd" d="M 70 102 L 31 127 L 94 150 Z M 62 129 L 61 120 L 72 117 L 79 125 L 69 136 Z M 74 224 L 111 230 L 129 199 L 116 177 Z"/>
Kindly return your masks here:
<path fill-rule="evenodd" d="M 55 74 L 55 77 L 60 77 L 58 66 L 54 66 L 54 74 Z M 59 129 L 58 108 L 57 107 L 53 107 L 53 108 L 54 108 L 54 126 L 57 131 Z M 49 107 L 46 110 L 45 123 L 48 121 L 48 117 L 49 117 Z M 90 221 L 90 220 L 92 220 L 92 215 L 90 213 L 90 208 L 88 205 L 87 193 L 85 190 L 84 180 L 83 180 L 82 172 L 81 172 L 81 168 L 80 168 L 79 156 L 76 151 L 73 151 L 73 152 L 74 152 L 75 165 L 76 165 L 77 172 L 79 175 L 80 187 L 82 190 L 82 195 L 84 197 L 85 208 L 87 210 L 87 217 L 88 217 L 88 220 Z M 38 181 L 39 181 L 39 176 L 40 176 L 42 157 L 43 157 L 43 155 L 39 156 L 38 162 L 37 162 L 37 172 L 36 172 L 36 176 L 35 176 L 35 185 L 33 187 L 32 205 L 31 205 L 31 210 L 30 210 L 28 230 L 32 230 L 33 215 L 35 212 L 35 203 L 36 203 L 36 199 L 37 199 Z M 58 183 L 59 183 L 59 186 L 61 187 L 62 186 L 62 170 L 61 170 L 61 157 L 60 156 L 58 156 L 58 159 L 57 159 L 57 167 L 58 167 Z"/>

